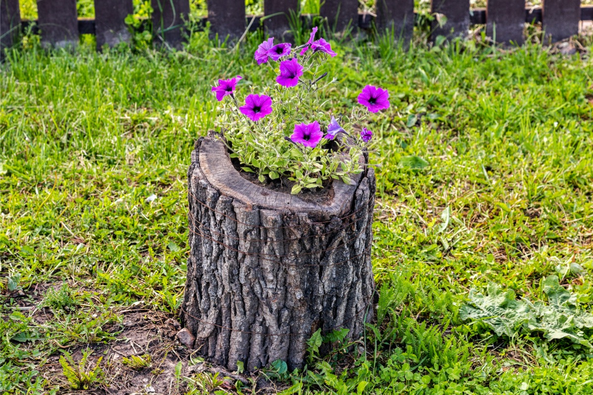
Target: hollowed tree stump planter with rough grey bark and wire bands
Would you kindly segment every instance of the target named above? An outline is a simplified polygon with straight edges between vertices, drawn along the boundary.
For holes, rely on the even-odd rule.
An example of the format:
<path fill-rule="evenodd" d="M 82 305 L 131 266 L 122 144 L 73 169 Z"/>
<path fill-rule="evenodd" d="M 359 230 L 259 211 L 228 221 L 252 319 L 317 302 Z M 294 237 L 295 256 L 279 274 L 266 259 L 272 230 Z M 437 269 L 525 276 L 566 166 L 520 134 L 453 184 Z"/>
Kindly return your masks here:
<path fill-rule="evenodd" d="M 334 181 L 326 204 L 243 178 L 222 142 L 200 139 L 189 178 L 182 323 L 198 353 L 229 370 L 276 359 L 303 364 L 307 340 L 374 316 L 371 265 L 375 176 Z"/>

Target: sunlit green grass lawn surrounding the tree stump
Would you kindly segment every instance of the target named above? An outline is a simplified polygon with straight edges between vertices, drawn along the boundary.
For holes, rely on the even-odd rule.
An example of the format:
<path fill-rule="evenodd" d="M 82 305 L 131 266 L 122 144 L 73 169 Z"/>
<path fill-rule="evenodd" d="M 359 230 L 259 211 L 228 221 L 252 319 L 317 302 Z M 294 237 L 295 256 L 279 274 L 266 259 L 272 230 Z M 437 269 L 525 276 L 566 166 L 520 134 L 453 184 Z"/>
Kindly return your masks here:
<path fill-rule="evenodd" d="M 366 84 L 391 94 L 369 118 L 378 321 L 327 357 L 311 347 L 308 370 L 243 381 L 174 343 L 190 152 L 216 128 L 216 78 L 273 76 L 253 60 L 261 39 L 9 53 L 0 393 L 593 393 L 593 62 L 535 44 L 333 41 L 334 102 L 350 108 Z"/>

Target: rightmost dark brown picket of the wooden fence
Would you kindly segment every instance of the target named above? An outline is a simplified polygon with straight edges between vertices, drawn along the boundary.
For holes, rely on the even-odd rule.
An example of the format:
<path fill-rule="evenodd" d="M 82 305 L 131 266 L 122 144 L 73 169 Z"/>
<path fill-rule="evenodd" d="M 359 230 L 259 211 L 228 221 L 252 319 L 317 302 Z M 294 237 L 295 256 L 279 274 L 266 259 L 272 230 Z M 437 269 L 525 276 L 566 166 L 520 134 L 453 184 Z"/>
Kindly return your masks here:
<path fill-rule="evenodd" d="M 546 37 L 560 41 L 579 33 L 581 0 L 544 0 L 542 22 Z"/>

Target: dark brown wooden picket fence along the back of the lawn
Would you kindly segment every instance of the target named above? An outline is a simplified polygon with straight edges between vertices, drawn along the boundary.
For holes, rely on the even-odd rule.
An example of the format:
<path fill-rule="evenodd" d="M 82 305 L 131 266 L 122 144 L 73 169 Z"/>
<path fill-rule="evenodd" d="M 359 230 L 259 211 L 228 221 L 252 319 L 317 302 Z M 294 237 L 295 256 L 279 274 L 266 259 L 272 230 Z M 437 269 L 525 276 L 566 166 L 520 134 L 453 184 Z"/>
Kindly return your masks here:
<path fill-rule="evenodd" d="M 290 10 L 296 10 L 299 0 L 264 0 L 262 22 L 271 35 L 288 28 Z M 358 0 L 321 0 L 321 17 L 331 28 L 346 27 L 393 28 L 400 37 L 409 40 L 414 27 L 414 0 L 377 0 L 374 13 L 360 14 Z M 431 8 L 446 23 L 433 24 L 432 37 L 464 36 L 470 25 L 486 25 L 486 34 L 499 43 L 521 44 L 525 23 L 541 23 L 551 41 L 563 40 L 578 33 L 579 22 L 593 20 L 593 7 L 581 7 L 581 0 L 542 0 L 542 7 L 525 8 L 522 0 L 488 0 L 486 8 L 470 9 L 470 0 L 432 0 Z M 95 34 L 97 49 L 104 44 L 114 46 L 128 41 L 130 33 L 124 23 L 132 14 L 132 0 L 95 0 L 95 18 L 79 19 L 76 0 L 37 0 L 39 19 L 34 21 L 44 46 L 66 46 L 78 43 L 79 34 Z M 212 33 L 225 37 L 243 34 L 252 17 L 247 17 L 245 0 L 208 0 L 208 17 Z M 189 13 L 189 0 L 151 0 L 155 37 L 178 47 L 183 40 L 183 20 Z M 251 28 L 259 28 L 261 17 L 254 17 Z M 24 24 L 18 0 L 0 0 L 0 44 L 11 46 Z"/>

